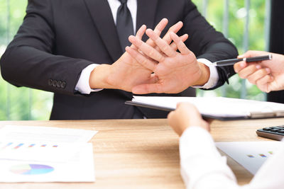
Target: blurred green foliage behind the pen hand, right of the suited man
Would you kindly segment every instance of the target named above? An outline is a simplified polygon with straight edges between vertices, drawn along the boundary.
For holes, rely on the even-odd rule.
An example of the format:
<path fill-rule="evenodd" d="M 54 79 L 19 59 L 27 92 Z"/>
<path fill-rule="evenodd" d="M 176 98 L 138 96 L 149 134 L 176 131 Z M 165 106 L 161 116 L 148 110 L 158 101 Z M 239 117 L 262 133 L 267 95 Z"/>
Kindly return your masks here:
<path fill-rule="evenodd" d="M 225 0 L 207 0 L 207 10 L 204 10 L 205 0 L 192 0 L 198 10 L 206 16 L 207 21 L 218 31 L 224 32 L 224 7 Z M 245 0 L 229 0 L 229 25 L 228 36 L 236 45 L 239 54 L 244 49 L 244 30 L 246 22 Z M 266 50 L 265 47 L 265 17 L 266 0 L 251 0 L 249 7 L 249 50 Z M 225 84 L 214 91 L 197 91 L 197 96 L 227 96 L 231 98 L 246 98 L 265 101 L 266 94 L 262 93 L 256 86 L 242 81 L 236 74 L 229 79 L 229 85 Z M 243 84 L 242 84 L 243 83 Z M 242 96 L 241 94 L 245 94 Z"/>

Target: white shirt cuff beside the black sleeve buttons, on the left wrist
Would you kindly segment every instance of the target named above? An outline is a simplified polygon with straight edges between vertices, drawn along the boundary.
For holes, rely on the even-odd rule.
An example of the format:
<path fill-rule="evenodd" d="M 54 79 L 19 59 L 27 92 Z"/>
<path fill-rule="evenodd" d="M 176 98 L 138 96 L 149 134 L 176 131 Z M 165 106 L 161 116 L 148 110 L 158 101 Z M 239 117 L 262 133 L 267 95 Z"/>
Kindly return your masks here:
<path fill-rule="evenodd" d="M 75 90 L 79 91 L 82 94 L 89 94 L 91 92 L 102 91 L 103 88 L 92 89 L 89 86 L 89 76 L 91 72 L 97 67 L 99 64 L 89 64 L 89 66 L 85 67 L 80 75 L 80 78 L 75 86 Z"/>

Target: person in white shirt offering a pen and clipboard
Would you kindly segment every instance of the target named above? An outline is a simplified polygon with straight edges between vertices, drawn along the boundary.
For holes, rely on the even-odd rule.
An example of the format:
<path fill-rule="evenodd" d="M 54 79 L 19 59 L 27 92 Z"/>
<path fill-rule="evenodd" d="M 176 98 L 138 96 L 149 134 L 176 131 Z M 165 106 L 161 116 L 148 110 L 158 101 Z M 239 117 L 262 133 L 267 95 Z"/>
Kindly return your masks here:
<path fill-rule="evenodd" d="M 267 55 L 249 51 L 239 57 Z M 239 62 L 234 69 L 239 76 L 256 84 L 261 91 L 284 89 L 284 56 L 273 54 L 273 60 L 248 64 Z M 281 189 L 284 188 L 284 142 L 247 185 L 238 185 L 236 177 L 214 146 L 209 123 L 202 120 L 197 108 L 180 103 L 168 115 L 168 122 L 180 136 L 180 166 L 183 181 L 190 189 Z"/>

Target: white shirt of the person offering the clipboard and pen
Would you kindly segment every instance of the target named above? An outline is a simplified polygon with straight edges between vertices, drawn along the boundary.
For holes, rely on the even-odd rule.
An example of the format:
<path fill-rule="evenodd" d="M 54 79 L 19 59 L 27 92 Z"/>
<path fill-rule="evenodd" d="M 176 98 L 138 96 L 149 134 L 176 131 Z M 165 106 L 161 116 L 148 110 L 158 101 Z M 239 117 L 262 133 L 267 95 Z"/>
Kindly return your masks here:
<path fill-rule="evenodd" d="M 284 188 L 284 142 L 248 185 L 238 185 L 226 158 L 202 127 L 189 127 L 180 137 L 182 179 L 188 189 L 282 189 Z"/>

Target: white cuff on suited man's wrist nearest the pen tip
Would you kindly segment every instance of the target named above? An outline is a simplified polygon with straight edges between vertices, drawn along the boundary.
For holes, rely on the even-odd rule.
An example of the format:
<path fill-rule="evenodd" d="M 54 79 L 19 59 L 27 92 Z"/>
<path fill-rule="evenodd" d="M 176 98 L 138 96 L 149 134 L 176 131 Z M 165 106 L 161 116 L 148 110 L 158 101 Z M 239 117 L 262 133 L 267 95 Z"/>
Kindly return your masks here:
<path fill-rule="evenodd" d="M 197 59 L 197 62 L 201 62 L 207 65 L 207 67 L 209 67 L 210 76 L 209 76 L 208 82 L 204 84 L 204 86 L 192 86 L 192 87 L 208 89 L 208 88 L 213 88 L 214 86 L 216 86 L 219 81 L 219 75 L 218 75 L 217 68 L 213 66 L 212 62 L 210 62 L 208 59 Z"/>

